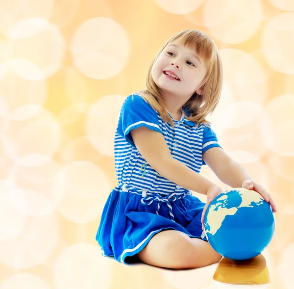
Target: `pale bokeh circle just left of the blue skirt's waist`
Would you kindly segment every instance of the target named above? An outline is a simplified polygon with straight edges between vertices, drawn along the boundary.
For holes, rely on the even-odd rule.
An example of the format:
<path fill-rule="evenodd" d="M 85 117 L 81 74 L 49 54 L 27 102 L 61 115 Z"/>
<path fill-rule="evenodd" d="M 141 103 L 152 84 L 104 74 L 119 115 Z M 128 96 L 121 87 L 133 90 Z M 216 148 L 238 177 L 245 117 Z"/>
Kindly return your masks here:
<path fill-rule="evenodd" d="M 73 177 L 76 178 L 74 181 Z M 58 187 L 63 194 L 58 211 L 77 224 L 91 222 L 101 215 L 111 189 L 103 170 L 86 161 L 65 165 L 59 172 Z"/>

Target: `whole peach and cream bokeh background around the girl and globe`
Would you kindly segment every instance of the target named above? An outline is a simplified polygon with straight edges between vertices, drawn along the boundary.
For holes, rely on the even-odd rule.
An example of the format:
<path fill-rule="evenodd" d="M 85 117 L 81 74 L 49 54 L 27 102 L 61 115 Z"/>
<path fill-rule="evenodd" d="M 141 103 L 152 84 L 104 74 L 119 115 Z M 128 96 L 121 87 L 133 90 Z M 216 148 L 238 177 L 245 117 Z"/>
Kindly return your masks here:
<path fill-rule="evenodd" d="M 209 119 L 222 147 L 277 204 L 261 287 L 293 289 L 293 0 L 0 0 L 1 289 L 232 287 L 212 279 L 216 264 L 127 266 L 95 241 L 117 184 L 123 100 L 188 28 L 221 52 L 224 87 Z M 206 166 L 201 174 L 227 188 Z"/>

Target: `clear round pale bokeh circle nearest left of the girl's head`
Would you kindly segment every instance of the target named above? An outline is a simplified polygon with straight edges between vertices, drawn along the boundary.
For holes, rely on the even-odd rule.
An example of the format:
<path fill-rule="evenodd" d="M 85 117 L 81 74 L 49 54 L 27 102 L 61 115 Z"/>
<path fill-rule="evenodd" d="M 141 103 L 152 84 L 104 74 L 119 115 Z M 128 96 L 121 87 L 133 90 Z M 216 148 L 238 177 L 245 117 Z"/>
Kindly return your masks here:
<path fill-rule="evenodd" d="M 127 32 L 109 18 L 92 18 L 79 26 L 72 39 L 74 64 L 92 79 L 109 79 L 122 72 L 130 53 Z"/>

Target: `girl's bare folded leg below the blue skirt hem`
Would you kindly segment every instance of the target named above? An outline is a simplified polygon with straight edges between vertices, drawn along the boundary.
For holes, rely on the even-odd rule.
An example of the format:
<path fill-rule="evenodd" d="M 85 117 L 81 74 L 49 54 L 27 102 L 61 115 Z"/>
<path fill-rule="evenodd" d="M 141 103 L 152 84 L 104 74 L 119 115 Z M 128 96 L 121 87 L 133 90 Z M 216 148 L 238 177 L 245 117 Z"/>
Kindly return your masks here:
<path fill-rule="evenodd" d="M 187 269 L 216 263 L 221 255 L 206 241 L 169 230 L 154 235 L 138 258 L 157 267 Z"/>

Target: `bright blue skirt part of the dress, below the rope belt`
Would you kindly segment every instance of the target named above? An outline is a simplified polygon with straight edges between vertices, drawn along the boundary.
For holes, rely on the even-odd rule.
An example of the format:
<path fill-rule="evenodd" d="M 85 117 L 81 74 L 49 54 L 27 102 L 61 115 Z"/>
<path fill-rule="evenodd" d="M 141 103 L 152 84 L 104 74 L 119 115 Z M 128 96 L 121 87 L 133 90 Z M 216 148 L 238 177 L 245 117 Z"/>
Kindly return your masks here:
<path fill-rule="evenodd" d="M 201 228 L 204 206 L 196 196 L 187 194 L 161 203 L 158 210 L 158 202 L 148 205 L 142 202 L 142 193 L 116 187 L 102 211 L 96 240 L 103 256 L 126 264 L 133 263 L 136 259 L 132 257 L 144 249 L 152 236 L 164 230 L 180 231 L 207 241 Z"/>

